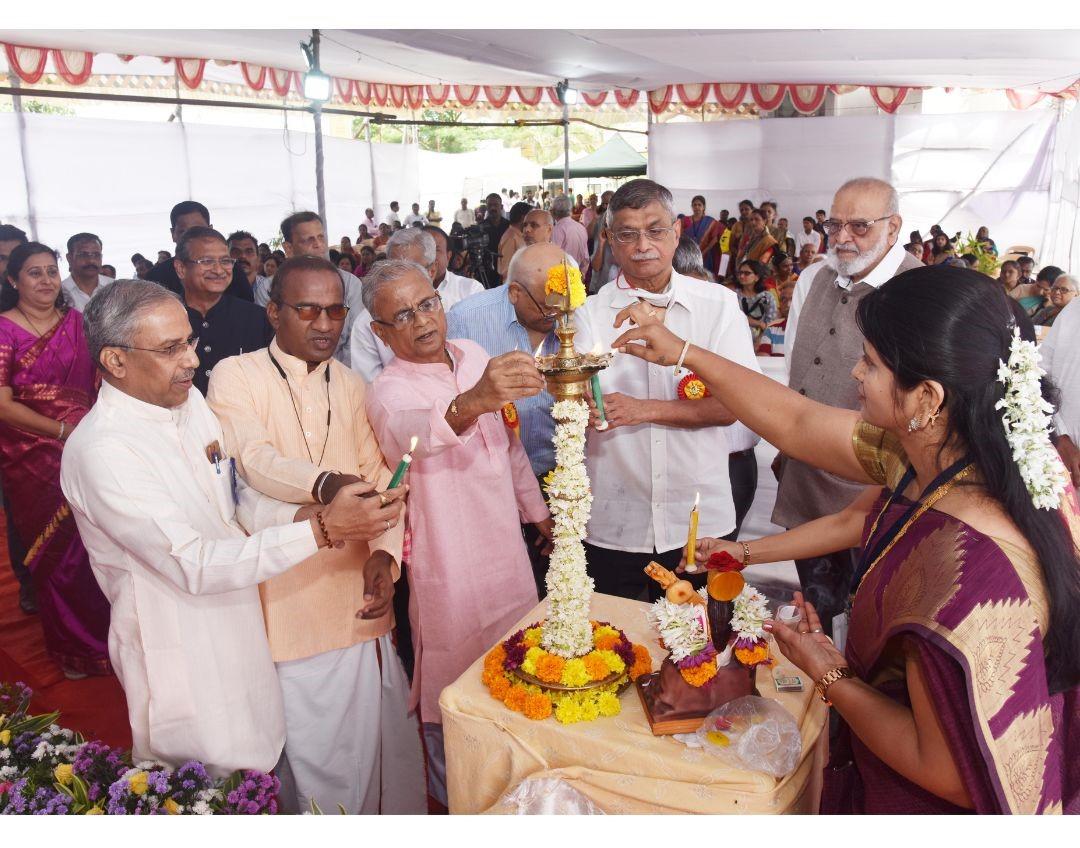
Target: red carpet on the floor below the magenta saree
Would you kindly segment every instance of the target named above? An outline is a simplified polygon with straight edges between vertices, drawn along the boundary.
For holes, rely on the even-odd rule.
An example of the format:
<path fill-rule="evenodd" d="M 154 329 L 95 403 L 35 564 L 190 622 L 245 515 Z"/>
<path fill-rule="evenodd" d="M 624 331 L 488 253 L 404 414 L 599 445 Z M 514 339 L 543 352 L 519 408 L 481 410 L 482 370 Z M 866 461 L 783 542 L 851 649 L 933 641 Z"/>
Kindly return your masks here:
<path fill-rule="evenodd" d="M 33 712 L 59 710 L 62 726 L 86 739 L 130 748 L 127 704 L 120 682 L 113 675 L 67 679 L 45 652 L 38 617 L 18 608 L 18 581 L 8 561 L 5 527 L 0 511 L 0 681 L 22 681 L 33 689 Z"/>

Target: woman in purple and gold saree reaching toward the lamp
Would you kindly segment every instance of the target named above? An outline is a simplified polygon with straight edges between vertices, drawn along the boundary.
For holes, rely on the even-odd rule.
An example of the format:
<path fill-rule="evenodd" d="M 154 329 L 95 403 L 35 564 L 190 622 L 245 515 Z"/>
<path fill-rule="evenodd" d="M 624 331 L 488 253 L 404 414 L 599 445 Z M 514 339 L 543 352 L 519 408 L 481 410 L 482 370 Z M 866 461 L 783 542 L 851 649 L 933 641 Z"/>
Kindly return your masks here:
<path fill-rule="evenodd" d="M 678 360 L 681 339 L 644 310 L 627 318 L 639 326 L 616 346 Z M 859 323 L 860 413 L 685 356 L 783 453 L 875 484 L 748 556 L 735 546 L 751 563 L 862 548 L 845 654 L 801 597 L 797 629 L 770 624 L 842 719 L 822 810 L 1080 812 L 1080 504 L 1050 443 L 1030 322 L 980 274 L 937 266 L 867 295 Z"/>

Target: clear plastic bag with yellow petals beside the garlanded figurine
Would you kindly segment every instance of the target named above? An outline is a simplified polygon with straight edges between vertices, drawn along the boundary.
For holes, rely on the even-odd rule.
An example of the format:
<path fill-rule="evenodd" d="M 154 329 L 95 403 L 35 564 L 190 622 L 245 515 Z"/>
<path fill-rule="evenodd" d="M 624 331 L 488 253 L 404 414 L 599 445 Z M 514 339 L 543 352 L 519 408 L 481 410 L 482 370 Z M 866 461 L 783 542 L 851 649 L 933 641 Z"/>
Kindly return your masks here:
<path fill-rule="evenodd" d="M 789 775 L 802 755 L 799 726 L 779 701 L 747 695 L 713 710 L 697 735 L 698 746 L 734 768 Z"/>

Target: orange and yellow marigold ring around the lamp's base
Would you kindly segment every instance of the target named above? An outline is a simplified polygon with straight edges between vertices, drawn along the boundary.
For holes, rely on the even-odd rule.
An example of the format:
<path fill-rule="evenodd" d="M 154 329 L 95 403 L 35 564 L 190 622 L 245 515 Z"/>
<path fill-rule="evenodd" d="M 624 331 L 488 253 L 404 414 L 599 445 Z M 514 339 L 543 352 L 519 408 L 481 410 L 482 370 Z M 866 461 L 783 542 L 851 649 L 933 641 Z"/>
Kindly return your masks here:
<path fill-rule="evenodd" d="M 652 657 L 644 645 L 634 645 L 618 628 L 604 621 L 589 624 L 592 650 L 570 659 L 540 647 L 544 622 L 517 631 L 488 651 L 481 679 L 492 698 L 534 721 L 554 715 L 562 724 L 572 724 L 618 715 L 619 690 L 627 679 L 635 681 L 652 671 Z M 517 676 L 518 670 L 528 677 L 561 686 L 606 683 L 579 691 L 553 691 Z"/>

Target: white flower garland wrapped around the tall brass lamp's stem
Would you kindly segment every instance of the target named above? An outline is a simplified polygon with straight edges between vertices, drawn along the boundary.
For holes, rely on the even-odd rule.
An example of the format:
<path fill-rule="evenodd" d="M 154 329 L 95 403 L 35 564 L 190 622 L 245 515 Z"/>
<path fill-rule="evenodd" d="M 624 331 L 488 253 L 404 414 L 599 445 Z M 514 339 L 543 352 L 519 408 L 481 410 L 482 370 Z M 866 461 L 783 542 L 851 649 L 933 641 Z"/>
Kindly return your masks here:
<path fill-rule="evenodd" d="M 548 504 L 555 531 L 545 581 L 548 617 L 540 645 L 569 659 L 593 649 L 589 610 L 594 583 L 581 543 L 593 503 L 585 473 L 589 407 L 582 401 L 558 401 L 551 413 L 555 419 L 555 470 L 548 483 Z"/>

